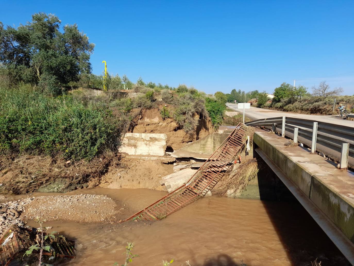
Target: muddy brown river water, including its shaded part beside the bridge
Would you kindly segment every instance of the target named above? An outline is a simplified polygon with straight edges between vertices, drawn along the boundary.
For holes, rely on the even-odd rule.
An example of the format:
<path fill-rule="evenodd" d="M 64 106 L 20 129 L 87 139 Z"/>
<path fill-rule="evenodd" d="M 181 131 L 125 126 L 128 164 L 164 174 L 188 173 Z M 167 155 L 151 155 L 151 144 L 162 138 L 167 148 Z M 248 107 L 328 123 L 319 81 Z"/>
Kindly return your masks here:
<path fill-rule="evenodd" d="M 133 213 L 165 195 L 149 189 L 76 190 L 67 194 L 105 194 Z M 39 195 L 55 193 L 34 193 Z M 15 198 L 21 198 L 16 196 Z M 36 226 L 30 221 L 30 226 Z M 47 222 L 76 240 L 76 258 L 67 265 L 124 264 L 126 242 L 139 257 L 129 266 L 173 265 L 350 265 L 298 203 L 212 196 L 184 207 L 161 221 L 121 224 Z M 184 264 L 185 265 L 185 264 Z"/>

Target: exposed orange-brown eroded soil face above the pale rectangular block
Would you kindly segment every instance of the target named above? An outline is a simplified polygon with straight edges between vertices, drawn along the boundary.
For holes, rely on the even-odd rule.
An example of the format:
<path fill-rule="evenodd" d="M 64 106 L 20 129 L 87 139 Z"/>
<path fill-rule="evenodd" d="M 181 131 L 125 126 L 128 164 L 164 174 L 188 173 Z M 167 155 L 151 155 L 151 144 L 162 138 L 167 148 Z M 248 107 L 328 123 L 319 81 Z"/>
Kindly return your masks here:
<path fill-rule="evenodd" d="M 164 133 L 167 135 L 167 151 L 180 149 L 188 142 L 198 140 L 213 132 L 211 121 L 195 114 L 194 119 L 198 121 L 198 126 L 194 134 L 187 134 L 172 118 L 163 120 L 160 114 L 161 108 L 162 106 L 153 109 L 132 110 L 132 113 L 135 113 L 135 119 L 129 132 Z"/>

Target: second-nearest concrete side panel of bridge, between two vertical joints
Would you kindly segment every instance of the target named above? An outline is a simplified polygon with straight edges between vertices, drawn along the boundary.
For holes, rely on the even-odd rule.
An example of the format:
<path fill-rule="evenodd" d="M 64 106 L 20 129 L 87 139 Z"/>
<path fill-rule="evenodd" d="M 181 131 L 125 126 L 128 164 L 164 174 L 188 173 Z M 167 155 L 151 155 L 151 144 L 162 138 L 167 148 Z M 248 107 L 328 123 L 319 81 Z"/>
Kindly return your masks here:
<path fill-rule="evenodd" d="M 299 187 L 299 189 L 310 197 L 311 173 L 307 172 L 296 161 L 288 158 L 286 175 Z"/>

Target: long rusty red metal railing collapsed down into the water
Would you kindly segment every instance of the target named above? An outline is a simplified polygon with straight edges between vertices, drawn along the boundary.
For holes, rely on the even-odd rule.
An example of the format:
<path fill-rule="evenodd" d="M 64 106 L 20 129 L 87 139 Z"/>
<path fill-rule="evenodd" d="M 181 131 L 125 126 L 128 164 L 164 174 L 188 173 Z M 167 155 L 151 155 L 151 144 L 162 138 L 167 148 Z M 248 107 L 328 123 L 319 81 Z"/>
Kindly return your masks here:
<path fill-rule="evenodd" d="M 210 156 L 188 182 L 167 194 L 145 209 L 133 214 L 122 222 L 161 220 L 181 207 L 204 196 L 224 176 L 229 163 L 246 143 L 247 126 L 239 123 L 219 148 Z"/>

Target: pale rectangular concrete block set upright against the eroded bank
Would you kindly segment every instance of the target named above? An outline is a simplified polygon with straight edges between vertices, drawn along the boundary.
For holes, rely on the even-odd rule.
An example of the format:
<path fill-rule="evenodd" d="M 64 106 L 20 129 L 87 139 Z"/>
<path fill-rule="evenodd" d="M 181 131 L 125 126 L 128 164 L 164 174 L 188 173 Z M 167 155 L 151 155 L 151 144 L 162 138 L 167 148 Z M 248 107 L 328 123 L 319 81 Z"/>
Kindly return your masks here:
<path fill-rule="evenodd" d="M 166 148 L 166 134 L 126 133 L 120 151 L 129 155 L 164 156 Z"/>

